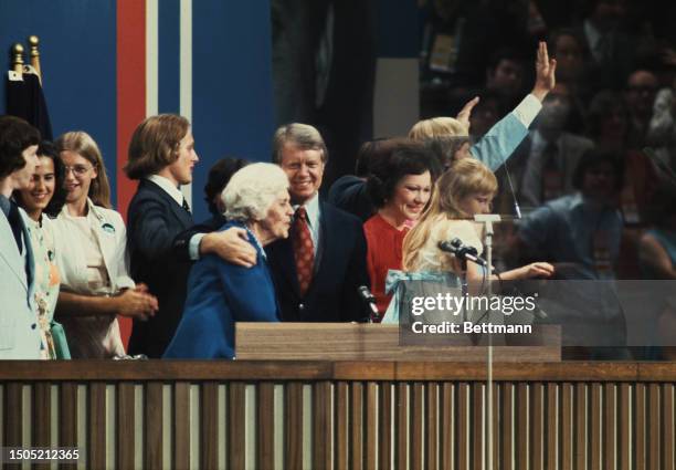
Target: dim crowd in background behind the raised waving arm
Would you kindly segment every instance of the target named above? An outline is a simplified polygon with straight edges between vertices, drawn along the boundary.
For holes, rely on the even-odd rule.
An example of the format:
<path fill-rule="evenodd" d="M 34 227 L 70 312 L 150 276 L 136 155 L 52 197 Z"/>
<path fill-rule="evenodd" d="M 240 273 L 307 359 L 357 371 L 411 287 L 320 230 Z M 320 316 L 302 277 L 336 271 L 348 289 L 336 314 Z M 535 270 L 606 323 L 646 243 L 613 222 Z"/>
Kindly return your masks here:
<path fill-rule="evenodd" d="M 480 96 L 471 143 L 522 96 L 538 40 L 557 60 L 556 87 L 497 170 L 493 211 L 524 215 L 501 227 L 500 267 L 541 259 L 557 279 L 674 280 L 676 7 L 440 0 L 420 12 L 421 113 Z"/>

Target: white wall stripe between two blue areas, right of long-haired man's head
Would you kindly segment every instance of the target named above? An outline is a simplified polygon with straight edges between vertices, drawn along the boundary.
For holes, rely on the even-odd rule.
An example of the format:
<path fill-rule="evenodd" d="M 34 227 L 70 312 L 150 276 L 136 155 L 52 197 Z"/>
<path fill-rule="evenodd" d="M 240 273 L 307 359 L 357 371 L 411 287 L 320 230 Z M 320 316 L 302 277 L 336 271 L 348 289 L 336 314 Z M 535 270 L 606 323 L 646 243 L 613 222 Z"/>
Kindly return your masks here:
<path fill-rule="evenodd" d="M 192 122 L 192 0 L 181 0 L 180 12 L 180 114 Z M 192 185 L 181 186 L 192 207 Z"/>

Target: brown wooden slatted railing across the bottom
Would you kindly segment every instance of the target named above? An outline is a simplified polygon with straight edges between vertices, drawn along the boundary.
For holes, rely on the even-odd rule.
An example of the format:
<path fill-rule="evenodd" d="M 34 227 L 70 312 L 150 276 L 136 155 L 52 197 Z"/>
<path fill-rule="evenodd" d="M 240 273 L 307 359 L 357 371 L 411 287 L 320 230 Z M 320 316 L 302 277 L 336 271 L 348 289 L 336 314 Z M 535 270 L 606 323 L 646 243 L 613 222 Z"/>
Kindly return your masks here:
<path fill-rule="evenodd" d="M 64 468 L 676 470 L 676 364 L 4 362 L 0 443 Z M 488 428 L 492 446 L 488 446 Z M 56 430 L 56 432 L 54 432 Z M 49 468 L 36 466 L 35 468 Z"/>

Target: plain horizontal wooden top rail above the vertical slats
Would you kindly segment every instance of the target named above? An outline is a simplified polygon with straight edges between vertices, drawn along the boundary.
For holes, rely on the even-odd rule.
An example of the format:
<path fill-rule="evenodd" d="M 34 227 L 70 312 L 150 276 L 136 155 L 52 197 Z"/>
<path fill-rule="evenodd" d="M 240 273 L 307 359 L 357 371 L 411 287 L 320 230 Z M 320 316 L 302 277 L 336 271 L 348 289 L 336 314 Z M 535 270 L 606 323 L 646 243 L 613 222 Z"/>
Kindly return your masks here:
<path fill-rule="evenodd" d="M 486 382 L 485 363 L 368 361 L 3 361 L 0 383 Z M 676 363 L 496 363 L 496 382 L 676 382 Z"/>

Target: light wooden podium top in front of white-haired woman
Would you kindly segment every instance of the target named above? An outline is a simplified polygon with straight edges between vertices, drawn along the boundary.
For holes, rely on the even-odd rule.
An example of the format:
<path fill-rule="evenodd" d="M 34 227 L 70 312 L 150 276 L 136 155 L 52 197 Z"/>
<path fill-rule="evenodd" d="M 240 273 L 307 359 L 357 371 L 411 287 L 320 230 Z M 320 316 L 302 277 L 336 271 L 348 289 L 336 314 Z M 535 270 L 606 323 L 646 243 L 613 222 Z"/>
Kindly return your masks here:
<path fill-rule="evenodd" d="M 516 335 L 493 347 L 493 361 L 559 362 L 559 326 L 534 326 L 528 344 Z M 486 345 L 401 345 L 399 325 L 367 323 L 236 323 L 240 361 L 485 362 Z"/>

